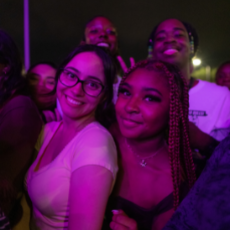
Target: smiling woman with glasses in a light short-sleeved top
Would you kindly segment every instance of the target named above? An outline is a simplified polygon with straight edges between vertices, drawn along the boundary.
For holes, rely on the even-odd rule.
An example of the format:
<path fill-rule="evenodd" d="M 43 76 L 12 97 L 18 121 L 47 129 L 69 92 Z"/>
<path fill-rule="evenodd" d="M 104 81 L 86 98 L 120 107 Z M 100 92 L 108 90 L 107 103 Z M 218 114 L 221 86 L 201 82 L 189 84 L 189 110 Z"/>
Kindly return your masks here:
<path fill-rule="evenodd" d="M 101 229 L 117 159 L 98 117 L 112 103 L 115 74 L 110 56 L 93 45 L 77 47 L 58 69 L 63 120 L 45 126 L 27 175 L 32 229 Z"/>

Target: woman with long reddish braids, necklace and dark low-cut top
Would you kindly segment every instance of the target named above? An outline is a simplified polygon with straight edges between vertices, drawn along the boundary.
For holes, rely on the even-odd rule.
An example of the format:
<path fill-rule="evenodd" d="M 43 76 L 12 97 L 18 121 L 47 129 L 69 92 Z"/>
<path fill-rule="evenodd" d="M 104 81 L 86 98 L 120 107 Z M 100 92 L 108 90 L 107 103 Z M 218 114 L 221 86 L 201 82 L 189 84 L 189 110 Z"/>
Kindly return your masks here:
<path fill-rule="evenodd" d="M 162 229 L 195 182 L 185 79 L 170 64 L 137 63 L 120 84 L 116 116 L 120 170 L 110 227 Z"/>

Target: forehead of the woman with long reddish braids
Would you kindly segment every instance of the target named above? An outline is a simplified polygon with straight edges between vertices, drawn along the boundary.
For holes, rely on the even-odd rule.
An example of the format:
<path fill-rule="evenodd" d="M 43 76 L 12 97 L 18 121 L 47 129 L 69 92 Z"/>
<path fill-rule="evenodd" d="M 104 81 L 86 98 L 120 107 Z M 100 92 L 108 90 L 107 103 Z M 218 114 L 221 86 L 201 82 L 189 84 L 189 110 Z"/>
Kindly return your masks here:
<path fill-rule="evenodd" d="M 138 87 L 163 87 L 166 90 L 169 88 L 169 83 L 167 77 L 155 70 L 147 70 L 145 68 L 138 68 L 134 72 L 132 72 L 125 82 Z"/>

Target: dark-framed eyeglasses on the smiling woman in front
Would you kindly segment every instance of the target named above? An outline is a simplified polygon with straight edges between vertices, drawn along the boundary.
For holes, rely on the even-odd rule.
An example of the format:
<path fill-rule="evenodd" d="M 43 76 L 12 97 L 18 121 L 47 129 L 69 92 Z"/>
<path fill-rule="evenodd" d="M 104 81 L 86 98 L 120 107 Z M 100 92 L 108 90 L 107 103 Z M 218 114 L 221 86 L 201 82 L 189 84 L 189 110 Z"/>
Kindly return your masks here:
<path fill-rule="evenodd" d="M 69 69 L 62 69 L 62 72 L 59 76 L 59 81 L 67 87 L 73 87 L 80 82 L 83 91 L 92 97 L 99 96 L 105 88 L 100 82 L 96 80 L 80 80 L 79 77 Z"/>

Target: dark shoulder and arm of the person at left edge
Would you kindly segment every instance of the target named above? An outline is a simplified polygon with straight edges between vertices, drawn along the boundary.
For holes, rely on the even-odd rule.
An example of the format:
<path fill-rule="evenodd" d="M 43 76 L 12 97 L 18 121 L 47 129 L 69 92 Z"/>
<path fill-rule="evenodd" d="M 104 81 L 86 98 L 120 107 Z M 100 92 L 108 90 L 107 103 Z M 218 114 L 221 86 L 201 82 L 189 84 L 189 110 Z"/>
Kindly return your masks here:
<path fill-rule="evenodd" d="M 10 110 L 0 121 L 0 206 L 7 216 L 22 191 L 41 127 L 40 116 L 30 105 Z"/>

